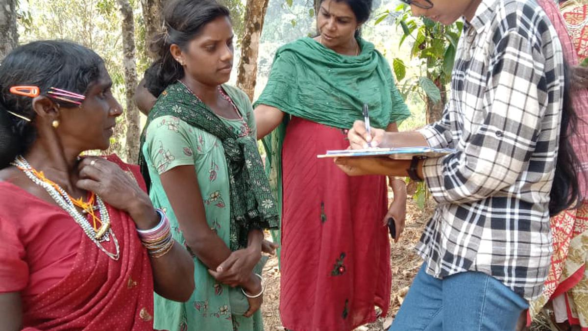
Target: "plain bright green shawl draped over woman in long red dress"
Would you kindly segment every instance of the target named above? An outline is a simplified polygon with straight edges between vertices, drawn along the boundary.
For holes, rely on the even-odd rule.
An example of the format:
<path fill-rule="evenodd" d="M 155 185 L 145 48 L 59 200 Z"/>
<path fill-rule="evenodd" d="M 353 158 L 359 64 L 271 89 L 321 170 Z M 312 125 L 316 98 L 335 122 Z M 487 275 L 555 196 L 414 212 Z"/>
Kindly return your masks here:
<path fill-rule="evenodd" d="M 365 102 L 373 127 L 386 128 L 410 116 L 386 59 L 371 42 L 361 38 L 358 42 L 362 51 L 356 57 L 340 55 L 308 37 L 276 52 L 268 84 L 254 107 L 270 105 L 287 114 L 278 128 L 263 138 L 268 155 L 266 173 L 278 200 L 280 220 L 282 144 L 290 115 L 349 129 L 356 120 L 363 120 Z M 274 241 L 279 242 L 280 233 L 272 234 Z"/>

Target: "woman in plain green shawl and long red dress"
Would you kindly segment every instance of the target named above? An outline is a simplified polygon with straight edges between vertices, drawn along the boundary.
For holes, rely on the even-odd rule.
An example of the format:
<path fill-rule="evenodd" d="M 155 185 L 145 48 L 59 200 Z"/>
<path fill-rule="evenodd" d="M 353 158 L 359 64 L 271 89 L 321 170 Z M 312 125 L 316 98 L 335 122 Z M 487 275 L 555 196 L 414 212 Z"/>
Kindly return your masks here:
<path fill-rule="evenodd" d="M 406 188 L 386 177 L 350 178 L 317 154 L 349 146 L 345 131 L 369 106 L 372 126 L 397 131 L 409 117 L 386 59 L 360 38 L 371 0 L 323 0 L 320 35 L 278 49 L 255 102 L 258 138 L 281 203 L 280 317 L 292 330 L 352 330 L 386 315 L 387 220 L 402 233 Z M 374 188 L 377 189 L 374 189 Z"/>

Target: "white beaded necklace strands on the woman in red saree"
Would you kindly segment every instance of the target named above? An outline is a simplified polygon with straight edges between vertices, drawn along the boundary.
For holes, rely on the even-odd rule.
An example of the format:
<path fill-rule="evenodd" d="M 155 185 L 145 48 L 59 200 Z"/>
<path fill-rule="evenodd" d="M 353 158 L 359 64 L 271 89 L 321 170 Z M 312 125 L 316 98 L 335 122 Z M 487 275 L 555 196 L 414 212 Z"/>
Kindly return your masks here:
<path fill-rule="evenodd" d="M 26 177 L 29 177 L 29 179 L 33 183 L 45 188 L 47 193 L 49 193 L 49 196 L 51 196 L 53 200 L 55 200 L 59 207 L 67 211 L 68 214 L 74 218 L 75 222 L 78 223 L 78 225 L 82 228 L 83 233 L 85 233 L 86 236 L 88 236 L 88 238 L 92 240 L 92 242 L 95 243 L 100 250 L 102 250 L 111 259 L 118 260 L 120 255 L 118 240 L 116 240 L 114 232 L 110 227 L 110 215 L 108 214 L 106 205 L 104 204 L 104 201 L 102 201 L 102 198 L 98 196 L 98 194 L 96 194 L 96 203 L 98 204 L 101 222 L 102 224 L 105 224 L 105 226 L 108 229 L 107 231 L 103 231 L 103 234 L 96 233 L 94 231 L 92 225 L 89 223 L 86 217 L 83 217 L 82 214 L 79 213 L 74 203 L 69 198 L 69 195 L 65 192 L 63 188 L 61 188 L 57 184 L 55 184 L 54 187 L 51 184 L 46 183 L 45 181 L 42 181 L 37 176 L 35 176 L 35 174 L 33 173 L 33 168 L 25 160 L 25 158 L 22 157 L 22 155 L 18 155 L 14 162 L 12 162 L 11 164 L 19 168 L 23 173 L 25 173 Z M 109 252 L 101 244 L 103 241 L 110 241 L 110 236 L 112 236 L 112 240 L 114 241 L 116 253 Z"/>

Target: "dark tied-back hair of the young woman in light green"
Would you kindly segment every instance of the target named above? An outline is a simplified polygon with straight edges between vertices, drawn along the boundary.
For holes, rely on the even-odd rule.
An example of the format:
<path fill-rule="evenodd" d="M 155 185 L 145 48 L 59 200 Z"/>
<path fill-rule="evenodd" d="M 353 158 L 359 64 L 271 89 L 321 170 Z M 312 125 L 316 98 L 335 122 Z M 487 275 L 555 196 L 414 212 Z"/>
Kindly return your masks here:
<path fill-rule="evenodd" d="M 168 3 L 163 12 L 163 32 L 149 47 L 158 59 L 145 71 L 145 87 L 155 97 L 184 75 L 183 67 L 172 57 L 169 47 L 176 44 L 186 51 L 188 43 L 206 24 L 218 17 L 230 17 L 229 9 L 214 0 L 177 0 Z"/>

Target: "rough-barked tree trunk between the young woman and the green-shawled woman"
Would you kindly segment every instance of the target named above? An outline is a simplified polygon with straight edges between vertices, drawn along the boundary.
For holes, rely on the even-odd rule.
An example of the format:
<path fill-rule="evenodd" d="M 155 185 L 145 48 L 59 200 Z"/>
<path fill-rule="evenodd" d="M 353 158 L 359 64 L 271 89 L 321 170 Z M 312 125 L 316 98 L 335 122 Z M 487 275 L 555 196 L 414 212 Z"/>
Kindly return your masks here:
<path fill-rule="evenodd" d="M 241 59 L 237 73 L 237 86 L 253 100 L 257 80 L 259 39 L 263 29 L 269 0 L 248 0 L 245 7 L 245 33 L 241 42 Z"/>

